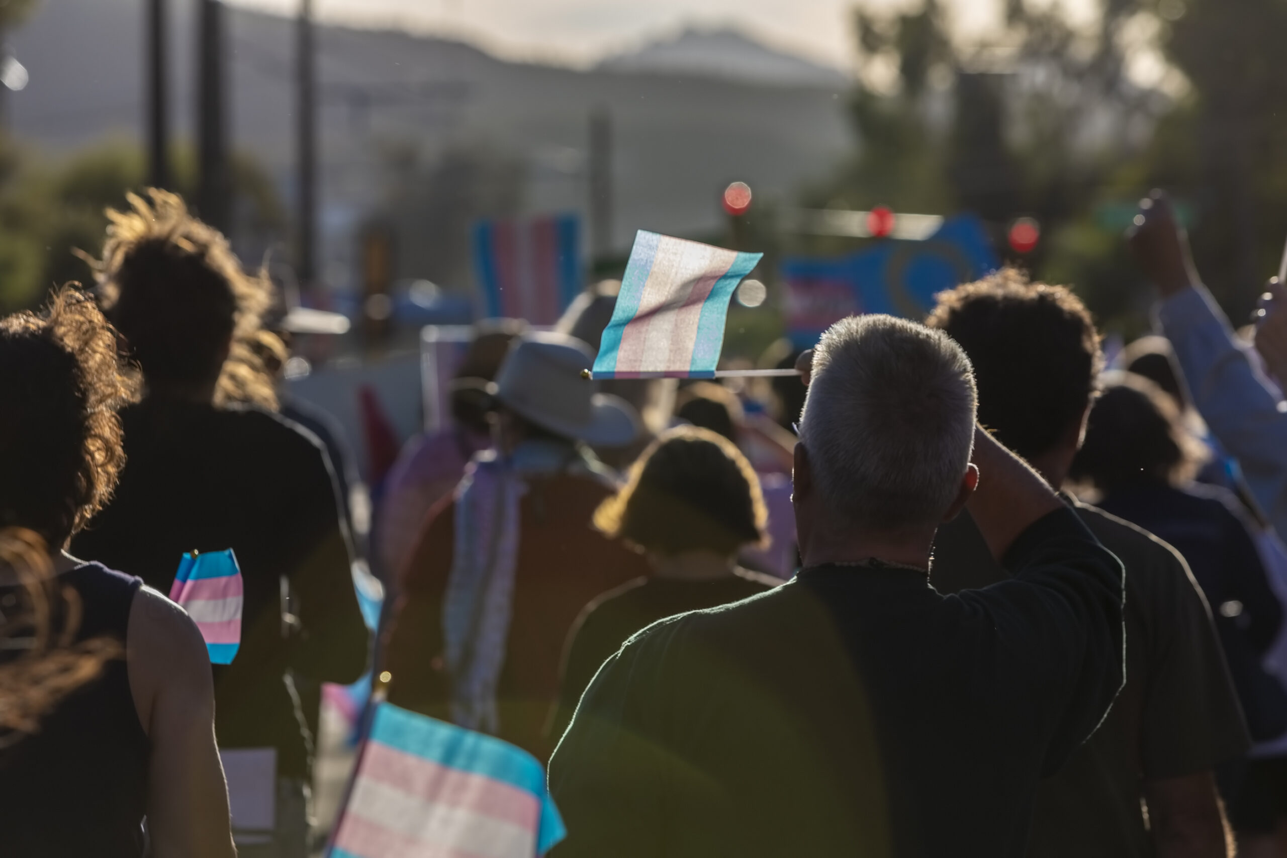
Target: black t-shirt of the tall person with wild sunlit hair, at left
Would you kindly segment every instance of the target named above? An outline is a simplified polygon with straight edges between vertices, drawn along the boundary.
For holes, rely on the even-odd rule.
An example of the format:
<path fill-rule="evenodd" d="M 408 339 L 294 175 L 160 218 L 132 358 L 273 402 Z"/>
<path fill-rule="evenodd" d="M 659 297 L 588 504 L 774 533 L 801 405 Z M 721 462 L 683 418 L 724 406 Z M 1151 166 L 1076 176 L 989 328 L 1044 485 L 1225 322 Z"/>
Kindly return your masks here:
<path fill-rule="evenodd" d="M 288 671 L 354 682 L 368 646 L 326 453 L 255 408 L 145 400 L 121 418 L 120 486 L 72 552 L 169 594 L 184 553 L 232 548 L 245 603 L 237 659 L 215 666 L 219 745 L 277 747 L 278 772 L 305 776 L 310 737 Z M 283 576 L 297 625 L 283 623 Z"/>

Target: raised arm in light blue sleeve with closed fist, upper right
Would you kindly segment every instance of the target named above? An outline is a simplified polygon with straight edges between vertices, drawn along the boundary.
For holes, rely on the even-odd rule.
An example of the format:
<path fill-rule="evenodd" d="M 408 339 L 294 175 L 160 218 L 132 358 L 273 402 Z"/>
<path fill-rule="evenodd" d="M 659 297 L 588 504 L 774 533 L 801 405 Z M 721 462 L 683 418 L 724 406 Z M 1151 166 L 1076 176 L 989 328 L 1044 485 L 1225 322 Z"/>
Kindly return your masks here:
<path fill-rule="evenodd" d="M 1129 235 L 1144 274 L 1157 286 L 1157 320 L 1170 340 L 1193 405 L 1236 458 L 1269 521 L 1287 534 L 1287 412 L 1278 390 L 1234 337 L 1202 286 L 1188 237 L 1161 192 L 1140 203 Z M 1279 310 L 1281 313 L 1282 310 Z"/>

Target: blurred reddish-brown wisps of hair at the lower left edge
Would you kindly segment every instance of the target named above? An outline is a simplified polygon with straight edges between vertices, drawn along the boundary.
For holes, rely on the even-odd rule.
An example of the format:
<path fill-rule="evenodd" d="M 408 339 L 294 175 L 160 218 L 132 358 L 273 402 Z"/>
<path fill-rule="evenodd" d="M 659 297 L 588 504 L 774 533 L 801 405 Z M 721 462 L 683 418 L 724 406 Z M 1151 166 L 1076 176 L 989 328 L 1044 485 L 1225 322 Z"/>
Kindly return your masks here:
<path fill-rule="evenodd" d="M 40 729 L 40 719 L 67 695 L 122 657 L 112 638 L 76 643 L 80 594 L 58 587 L 44 540 L 19 527 L 0 529 L 0 575 L 19 585 L 18 605 L 0 619 L 0 749 Z M 17 655 L 14 655 L 17 653 Z"/>

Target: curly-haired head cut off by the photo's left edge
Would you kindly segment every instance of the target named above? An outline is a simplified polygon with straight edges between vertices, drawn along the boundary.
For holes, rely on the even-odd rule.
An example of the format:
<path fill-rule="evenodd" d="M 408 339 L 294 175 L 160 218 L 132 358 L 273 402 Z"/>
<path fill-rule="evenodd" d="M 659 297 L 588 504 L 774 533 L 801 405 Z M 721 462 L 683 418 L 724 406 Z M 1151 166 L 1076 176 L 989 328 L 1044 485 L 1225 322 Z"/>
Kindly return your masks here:
<path fill-rule="evenodd" d="M 116 488 L 116 409 L 133 390 L 94 300 L 64 288 L 41 314 L 0 319 L 0 527 L 62 548 Z"/>

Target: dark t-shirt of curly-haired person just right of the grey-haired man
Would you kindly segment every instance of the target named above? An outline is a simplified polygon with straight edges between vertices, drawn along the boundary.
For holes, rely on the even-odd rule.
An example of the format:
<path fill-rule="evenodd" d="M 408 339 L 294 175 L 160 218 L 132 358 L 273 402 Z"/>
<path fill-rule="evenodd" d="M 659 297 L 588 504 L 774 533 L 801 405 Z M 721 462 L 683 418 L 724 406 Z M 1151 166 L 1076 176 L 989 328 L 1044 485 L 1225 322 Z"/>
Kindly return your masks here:
<path fill-rule="evenodd" d="M 1090 741 L 1041 782 L 1028 855 L 1143 858 L 1153 854 L 1143 780 L 1210 771 L 1243 753 L 1247 735 L 1184 560 L 1134 525 L 1084 504 L 1076 511 L 1126 569 L 1126 684 Z M 940 529 L 931 571 L 940 592 L 1008 576 L 968 513 Z"/>

